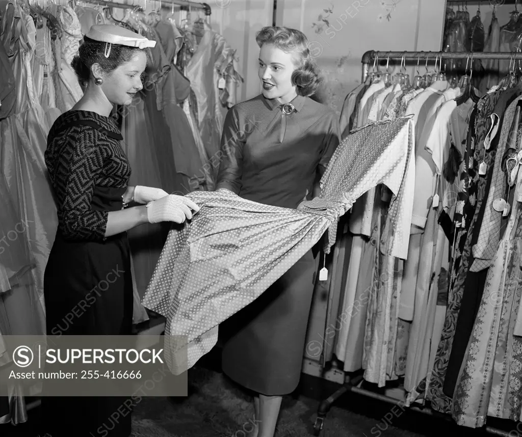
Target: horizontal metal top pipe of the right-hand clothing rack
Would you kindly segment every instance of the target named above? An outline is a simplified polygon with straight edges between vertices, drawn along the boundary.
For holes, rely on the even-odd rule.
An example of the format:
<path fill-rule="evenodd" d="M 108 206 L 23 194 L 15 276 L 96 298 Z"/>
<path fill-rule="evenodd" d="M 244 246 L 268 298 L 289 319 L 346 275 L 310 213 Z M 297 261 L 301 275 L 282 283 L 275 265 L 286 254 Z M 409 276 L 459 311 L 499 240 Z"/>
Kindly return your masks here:
<path fill-rule="evenodd" d="M 369 50 L 362 55 L 362 81 L 366 80 L 370 65 L 378 59 L 522 59 L 520 52 L 376 52 Z"/>

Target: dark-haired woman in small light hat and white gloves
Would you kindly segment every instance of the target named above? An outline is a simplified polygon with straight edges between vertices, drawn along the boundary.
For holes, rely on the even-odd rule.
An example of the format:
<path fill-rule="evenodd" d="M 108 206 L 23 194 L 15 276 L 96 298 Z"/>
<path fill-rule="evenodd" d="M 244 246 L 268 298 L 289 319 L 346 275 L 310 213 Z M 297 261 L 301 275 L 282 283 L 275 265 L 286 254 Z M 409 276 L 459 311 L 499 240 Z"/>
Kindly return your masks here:
<path fill-rule="evenodd" d="M 132 333 L 133 283 L 126 231 L 144 223 L 182 223 L 198 206 L 160 188 L 129 187 L 131 168 L 109 117 L 143 88 L 141 35 L 92 26 L 73 67 L 85 94 L 53 124 L 45 163 L 57 202 L 58 229 L 44 276 L 49 335 Z M 129 206 L 135 203 L 135 206 Z M 131 405 L 116 397 L 42 399 L 52 437 L 131 435 Z M 117 413 L 117 418 L 115 414 Z"/>

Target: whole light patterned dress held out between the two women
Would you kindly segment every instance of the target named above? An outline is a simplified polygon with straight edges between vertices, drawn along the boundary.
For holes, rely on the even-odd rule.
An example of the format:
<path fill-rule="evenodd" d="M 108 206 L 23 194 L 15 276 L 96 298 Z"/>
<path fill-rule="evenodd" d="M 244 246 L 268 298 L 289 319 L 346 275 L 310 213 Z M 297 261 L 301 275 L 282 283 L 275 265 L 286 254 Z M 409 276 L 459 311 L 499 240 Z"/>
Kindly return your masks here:
<path fill-rule="evenodd" d="M 242 199 L 230 191 L 187 195 L 201 210 L 191 223 L 171 229 L 143 300 L 167 318 L 165 357 L 171 371 L 179 374 L 192 367 L 216 344 L 219 323 L 254 301 L 327 228 L 329 252 L 338 217 L 379 183 L 394 193 L 392 223 L 387 226 L 397 223 L 399 229 L 387 252 L 405 256 L 409 232 L 402 238 L 400 229 L 410 227 L 411 196 L 405 191 L 411 186 L 412 137 L 409 118 L 348 136 L 321 179 L 321 196 L 303 202 L 297 211 Z M 174 335 L 186 338 L 170 337 Z"/>

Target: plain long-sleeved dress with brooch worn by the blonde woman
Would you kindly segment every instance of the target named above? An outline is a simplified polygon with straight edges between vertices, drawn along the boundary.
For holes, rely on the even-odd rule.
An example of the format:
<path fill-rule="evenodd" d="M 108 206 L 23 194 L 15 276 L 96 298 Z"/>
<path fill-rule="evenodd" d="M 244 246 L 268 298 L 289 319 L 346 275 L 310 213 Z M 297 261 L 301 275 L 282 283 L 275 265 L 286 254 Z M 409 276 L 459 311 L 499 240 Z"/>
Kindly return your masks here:
<path fill-rule="evenodd" d="M 298 96 L 295 111 L 263 95 L 235 105 L 224 122 L 217 189 L 295 209 L 339 144 L 334 111 Z M 281 141 L 281 138 L 282 141 Z M 315 281 L 307 252 L 252 304 L 220 325 L 222 368 L 256 393 L 276 396 L 299 383 Z"/>

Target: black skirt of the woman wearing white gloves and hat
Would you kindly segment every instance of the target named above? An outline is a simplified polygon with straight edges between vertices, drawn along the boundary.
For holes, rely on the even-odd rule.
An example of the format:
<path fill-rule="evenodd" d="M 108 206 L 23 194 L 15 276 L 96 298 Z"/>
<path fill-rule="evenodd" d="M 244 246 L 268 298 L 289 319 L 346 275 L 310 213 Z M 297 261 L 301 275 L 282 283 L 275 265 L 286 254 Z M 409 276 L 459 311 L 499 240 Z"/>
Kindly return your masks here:
<path fill-rule="evenodd" d="M 44 275 L 48 335 L 130 335 L 133 285 L 127 234 L 104 242 L 56 236 Z M 45 391 L 45 385 L 43 387 Z M 128 437 L 124 397 L 42 397 L 44 432 L 52 437 Z"/>

